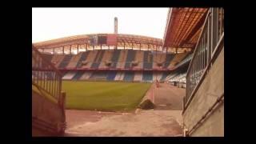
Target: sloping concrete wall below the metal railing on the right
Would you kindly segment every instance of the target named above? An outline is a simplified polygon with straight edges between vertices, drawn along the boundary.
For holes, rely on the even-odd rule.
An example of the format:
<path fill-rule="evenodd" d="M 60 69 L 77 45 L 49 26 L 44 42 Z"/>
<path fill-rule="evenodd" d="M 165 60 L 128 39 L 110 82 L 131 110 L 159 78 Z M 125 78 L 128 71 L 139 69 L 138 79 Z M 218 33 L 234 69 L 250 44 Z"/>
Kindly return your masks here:
<path fill-rule="evenodd" d="M 206 74 L 201 86 L 184 111 L 183 122 L 189 131 L 224 93 L 224 48 Z M 206 121 L 190 136 L 224 136 L 224 103 L 218 106 Z"/>

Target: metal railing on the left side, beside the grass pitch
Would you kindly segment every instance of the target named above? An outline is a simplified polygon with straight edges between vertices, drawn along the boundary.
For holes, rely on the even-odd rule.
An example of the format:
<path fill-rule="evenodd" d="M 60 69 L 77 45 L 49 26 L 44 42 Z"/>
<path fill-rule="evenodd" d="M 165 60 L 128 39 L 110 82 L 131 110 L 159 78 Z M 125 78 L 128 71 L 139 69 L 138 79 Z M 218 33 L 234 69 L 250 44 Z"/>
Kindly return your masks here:
<path fill-rule="evenodd" d="M 32 85 L 37 86 L 39 90 L 43 90 L 57 100 L 62 95 L 62 74 L 33 45 Z"/>

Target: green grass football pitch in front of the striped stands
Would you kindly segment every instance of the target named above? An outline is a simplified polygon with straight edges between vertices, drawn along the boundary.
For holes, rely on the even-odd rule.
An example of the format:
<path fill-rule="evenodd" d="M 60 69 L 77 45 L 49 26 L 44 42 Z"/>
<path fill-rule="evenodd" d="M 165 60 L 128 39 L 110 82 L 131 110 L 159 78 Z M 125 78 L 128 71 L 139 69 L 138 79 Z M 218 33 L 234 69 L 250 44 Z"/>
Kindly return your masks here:
<path fill-rule="evenodd" d="M 150 83 L 62 81 L 66 109 L 130 111 L 141 102 Z"/>

